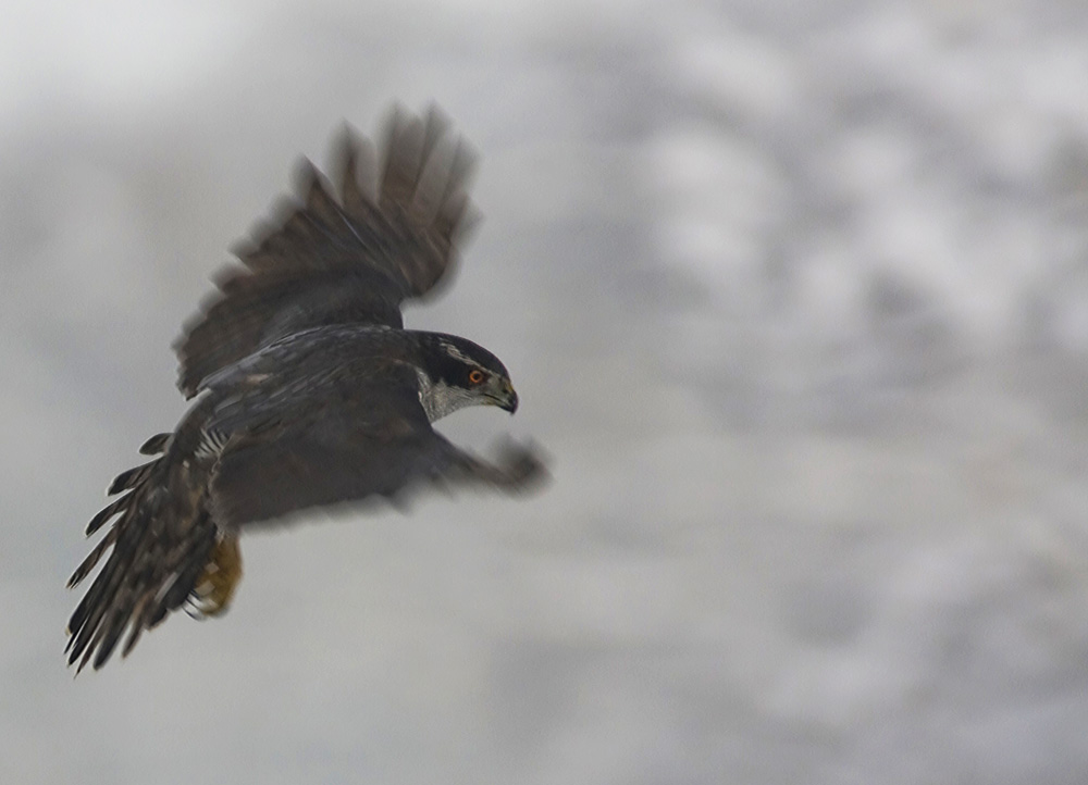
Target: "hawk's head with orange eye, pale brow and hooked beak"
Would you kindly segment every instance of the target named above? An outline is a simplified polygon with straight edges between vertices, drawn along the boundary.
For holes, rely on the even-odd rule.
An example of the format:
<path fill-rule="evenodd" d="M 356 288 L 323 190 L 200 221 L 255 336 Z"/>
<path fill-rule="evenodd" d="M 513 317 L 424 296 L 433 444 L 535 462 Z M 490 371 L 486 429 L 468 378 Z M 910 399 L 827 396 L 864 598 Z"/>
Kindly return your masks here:
<path fill-rule="evenodd" d="M 419 335 L 423 336 L 419 397 L 431 422 L 470 406 L 517 411 L 518 394 L 497 357 L 455 335 Z"/>

